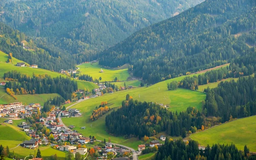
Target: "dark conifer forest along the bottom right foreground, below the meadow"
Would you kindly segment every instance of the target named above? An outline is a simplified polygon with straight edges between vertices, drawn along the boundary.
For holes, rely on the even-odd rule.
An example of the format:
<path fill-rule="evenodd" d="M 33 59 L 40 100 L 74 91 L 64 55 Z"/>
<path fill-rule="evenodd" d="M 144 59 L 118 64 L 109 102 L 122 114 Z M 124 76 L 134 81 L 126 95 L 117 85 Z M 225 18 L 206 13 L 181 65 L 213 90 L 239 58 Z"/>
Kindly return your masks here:
<path fill-rule="evenodd" d="M 250 156 L 250 149 L 244 146 L 240 151 L 236 145 L 209 145 L 205 151 L 198 149 L 198 143 L 190 140 L 186 145 L 182 140 L 166 140 L 165 144 L 160 146 L 154 160 L 255 160 L 255 156 Z"/>

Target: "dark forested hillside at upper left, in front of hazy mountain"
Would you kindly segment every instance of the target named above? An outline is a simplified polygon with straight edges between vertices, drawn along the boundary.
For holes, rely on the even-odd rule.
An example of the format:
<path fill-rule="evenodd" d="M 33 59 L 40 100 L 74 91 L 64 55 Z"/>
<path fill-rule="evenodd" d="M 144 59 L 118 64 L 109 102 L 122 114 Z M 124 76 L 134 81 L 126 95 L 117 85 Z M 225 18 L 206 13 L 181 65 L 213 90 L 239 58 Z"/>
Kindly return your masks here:
<path fill-rule="evenodd" d="M 0 50 L 6 54 L 12 53 L 12 56 L 17 59 L 28 64 L 38 64 L 38 67 L 47 70 L 58 71 L 75 68 L 76 61 L 67 52 L 63 52 L 53 45 L 34 41 L 6 24 L 0 23 L 0 26 Z M 23 42 L 27 42 L 26 47 L 29 49 L 23 49 Z"/>

